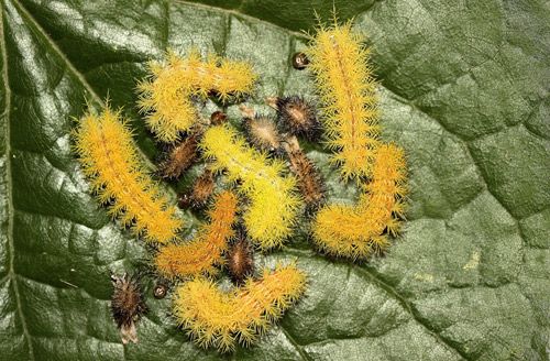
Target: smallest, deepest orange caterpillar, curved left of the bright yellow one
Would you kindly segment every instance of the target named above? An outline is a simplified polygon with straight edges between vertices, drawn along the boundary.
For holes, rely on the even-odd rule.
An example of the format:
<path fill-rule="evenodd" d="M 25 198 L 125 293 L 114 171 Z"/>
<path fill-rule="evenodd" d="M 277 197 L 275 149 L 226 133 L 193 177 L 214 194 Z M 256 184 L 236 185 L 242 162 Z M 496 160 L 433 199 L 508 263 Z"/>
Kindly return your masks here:
<path fill-rule="evenodd" d="M 237 201 L 233 193 L 220 193 L 209 211 L 210 222 L 202 226 L 193 241 L 161 248 L 154 261 L 157 272 L 168 278 L 216 273 L 216 265 L 223 263 L 228 239 L 233 236 Z"/>

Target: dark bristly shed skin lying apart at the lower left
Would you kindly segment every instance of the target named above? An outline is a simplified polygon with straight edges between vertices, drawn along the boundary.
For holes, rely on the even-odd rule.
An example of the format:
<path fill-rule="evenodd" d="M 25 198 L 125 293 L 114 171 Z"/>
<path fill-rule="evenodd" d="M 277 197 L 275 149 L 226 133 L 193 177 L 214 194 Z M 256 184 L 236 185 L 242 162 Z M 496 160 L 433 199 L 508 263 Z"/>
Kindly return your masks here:
<path fill-rule="evenodd" d="M 147 310 L 138 277 L 112 275 L 111 313 L 123 343 L 138 342 L 135 322 Z"/>

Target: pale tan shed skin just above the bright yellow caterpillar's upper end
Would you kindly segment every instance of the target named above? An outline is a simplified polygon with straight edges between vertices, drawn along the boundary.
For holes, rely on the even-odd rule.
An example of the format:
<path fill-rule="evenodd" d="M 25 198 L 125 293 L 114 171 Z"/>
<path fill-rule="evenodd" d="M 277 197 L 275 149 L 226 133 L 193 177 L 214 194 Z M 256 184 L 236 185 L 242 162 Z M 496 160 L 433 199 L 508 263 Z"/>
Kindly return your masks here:
<path fill-rule="evenodd" d="M 254 118 L 244 118 L 243 121 L 246 139 L 253 146 L 270 153 L 280 151 L 280 135 L 273 120 L 256 114 Z"/>

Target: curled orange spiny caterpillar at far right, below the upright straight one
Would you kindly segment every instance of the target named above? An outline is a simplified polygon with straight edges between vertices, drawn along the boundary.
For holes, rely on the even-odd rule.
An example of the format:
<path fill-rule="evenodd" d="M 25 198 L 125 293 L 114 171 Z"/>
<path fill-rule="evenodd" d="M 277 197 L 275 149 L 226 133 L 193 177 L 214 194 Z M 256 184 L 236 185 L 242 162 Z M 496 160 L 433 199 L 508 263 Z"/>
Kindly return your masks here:
<path fill-rule="evenodd" d="M 372 182 L 365 186 L 356 206 L 329 205 L 319 210 L 312 223 L 312 239 L 323 252 L 350 259 L 364 259 L 385 249 L 387 233 L 398 231 L 406 195 L 406 165 L 403 150 L 381 144 L 375 153 Z"/>

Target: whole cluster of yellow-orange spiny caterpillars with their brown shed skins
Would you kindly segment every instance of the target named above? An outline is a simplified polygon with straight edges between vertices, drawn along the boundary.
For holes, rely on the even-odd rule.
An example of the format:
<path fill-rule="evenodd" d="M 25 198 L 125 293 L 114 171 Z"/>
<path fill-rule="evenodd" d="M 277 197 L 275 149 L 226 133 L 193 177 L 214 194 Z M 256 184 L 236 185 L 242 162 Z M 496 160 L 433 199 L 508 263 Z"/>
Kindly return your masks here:
<path fill-rule="evenodd" d="M 376 83 L 369 50 L 351 23 L 320 26 L 293 65 L 315 77 L 320 109 L 299 96 L 266 102 L 277 118 L 242 106 L 241 127 L 221 111 L 201 119 L 194 101 L 216 97 L 238 102 L 253 91 L 257 76 L 245 62 L 219 56 L 202 59 L 197 51 L 148 66 L 139 84 L 139 106 L 155 138 L 169 144 L 156 172 L 179 178 L 202 160 L 205 169 L 182 208 L 208 207 L 205 222 L 191 239 L 144 166 L 120 112 L 109 107 L 90 111 L 74 132 L 75 150 L 91 188 L 109 212 L 155 249 L 152 264 L 160 280 L 154 296 L 173 289 L 173 315 L 201 347 L 221 352 L 249 346 L 306 289 L 306 275 L 295 263 L 254 271 L 254 250 L 266 252 L 289 240 L 298 219 L 310 221 L 316 249 L 332 256 L 364 260 L 388 245 L 398 231 L 406 194 L 404 152 L 380 134 Z M 327 204 L 324 186 L 298 139 L 324 144 L 342 179 L 356 180 L 356 205 Z M 290 172 L 287 171 L 290 169 Z M 216 183 L 221 175 L 224 189 Z M 306 215 L 300 217 L 300 211 Z M 220 291 L 216 277 L 228 270 L 233 288 Z M 113 277 L 113 316 L 124 343 L 136 341 L 135 321 L 146 307 L 139 280 Z"/>

